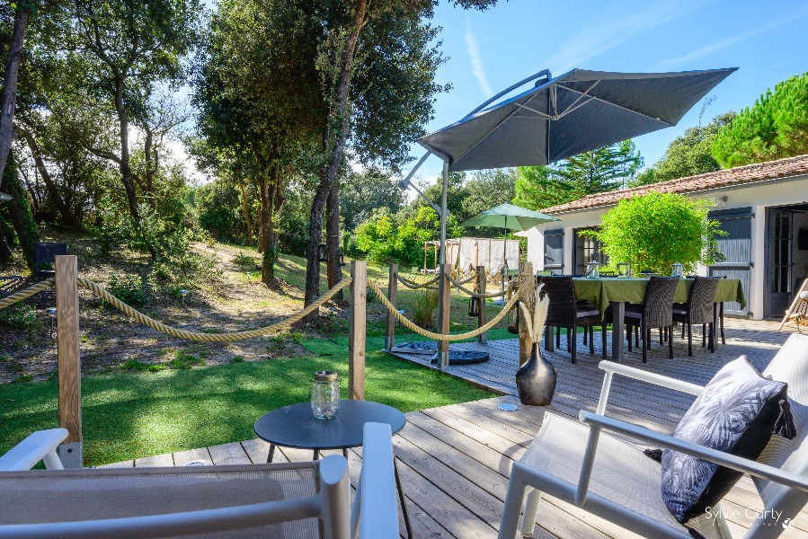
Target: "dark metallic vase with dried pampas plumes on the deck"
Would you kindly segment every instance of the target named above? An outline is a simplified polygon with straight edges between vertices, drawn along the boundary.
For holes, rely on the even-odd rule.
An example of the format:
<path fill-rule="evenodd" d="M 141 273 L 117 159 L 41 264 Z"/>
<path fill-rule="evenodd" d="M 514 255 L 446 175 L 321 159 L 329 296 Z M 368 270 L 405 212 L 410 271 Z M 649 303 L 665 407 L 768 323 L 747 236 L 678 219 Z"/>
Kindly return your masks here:
<path fill-rule="evenodd" d="M 528 361 L 516 372 L 516 389 L 519 392 L 519 401 L 530 406 L 546 406 L 553 400 L 557 377 L 555 367 L 542 356 L 539 348 L 550 306 L 549 296 L 541 293 L 543 287 L 544 285 L 536 287 L 533 297 L 528 296 L 526 301 L 519 303 L 526 331 L 533 341 L 533 349 Z"/>

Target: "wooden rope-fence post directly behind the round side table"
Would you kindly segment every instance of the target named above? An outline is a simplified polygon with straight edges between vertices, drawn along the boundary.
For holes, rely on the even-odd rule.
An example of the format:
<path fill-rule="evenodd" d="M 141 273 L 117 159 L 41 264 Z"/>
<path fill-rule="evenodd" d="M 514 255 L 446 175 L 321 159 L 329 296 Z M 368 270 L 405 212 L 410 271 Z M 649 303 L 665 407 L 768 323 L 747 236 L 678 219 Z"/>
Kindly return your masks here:
<path fill-rule="evenodd" d="M 351 314 L 348 323 L 348 398 L 365 400 L 368 262 L 351 261 Z"/>

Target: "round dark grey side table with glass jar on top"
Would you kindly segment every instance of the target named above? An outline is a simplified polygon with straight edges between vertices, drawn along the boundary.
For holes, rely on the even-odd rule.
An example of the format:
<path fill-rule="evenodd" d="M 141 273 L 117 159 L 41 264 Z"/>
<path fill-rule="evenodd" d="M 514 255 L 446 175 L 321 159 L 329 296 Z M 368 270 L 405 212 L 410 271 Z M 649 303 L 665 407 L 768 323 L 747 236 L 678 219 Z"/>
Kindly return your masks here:
<path fill-rule="evenodd" d="M 386 423 L 393 434 L 397 434 L 407 422 L 401 411 L 392 406 L 370 401 L 340 400 L 340 410 L 331 420 L 318 420 L 311 411 L 309 402 L 298 402 L 266 413 L 255 421 L 255 435 L 270 443 L 267 462 L 272 462 L 275 446 L 311 449 L 312 460 L 320 457 L 323 449 L 342 449 L 342 455 L 348 458 L 349 447 L 362 445 L 362 430 L 365 423 Z M 404 513 L 404 525 L 407 537 L 412 538 L 410 516 L 404 503 L 404 490 L 398 477 L 397 457 L 393 457 L 395 471 L 395 487 Z"/>

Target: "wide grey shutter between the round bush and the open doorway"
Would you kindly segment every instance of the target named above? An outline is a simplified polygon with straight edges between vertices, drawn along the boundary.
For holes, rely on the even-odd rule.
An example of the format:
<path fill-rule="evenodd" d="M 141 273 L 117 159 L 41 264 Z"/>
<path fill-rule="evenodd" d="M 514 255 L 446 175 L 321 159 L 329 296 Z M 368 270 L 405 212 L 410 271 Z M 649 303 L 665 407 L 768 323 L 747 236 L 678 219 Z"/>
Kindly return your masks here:
<path fill-rule="evenodd" d="M 724 260 L 709 267 L 711 277 L 737 278 L 741 280 L 743 295 L 750 297 L 750 277 L 752 268 L 752 208 L 717 209 L 709 213 L 711 219 L 721 223 L 727 233 L 716 238 L 718 250 L 724 253 Z M 724 313 L 749 314 L 749 305 L 741 309 L 737 302 L 724 304 Z"/>

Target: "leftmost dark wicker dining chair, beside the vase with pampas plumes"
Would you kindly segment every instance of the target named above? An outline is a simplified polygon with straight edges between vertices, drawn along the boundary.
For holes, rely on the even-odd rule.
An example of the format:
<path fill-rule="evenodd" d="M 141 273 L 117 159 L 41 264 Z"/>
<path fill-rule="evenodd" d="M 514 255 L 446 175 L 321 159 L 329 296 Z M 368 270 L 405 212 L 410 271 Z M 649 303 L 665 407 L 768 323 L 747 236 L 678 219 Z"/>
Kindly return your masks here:
<path fill-rule="evenodd" d="M 546 325 L 567 330 L 567 349 L 570 350 L 573 363 L 575 363 L 575 352 L 578 348 L 579 327 L 584 328 L 584 331 L 589 331 L 590 354 L 594 354 L 595 343 L 591 338 L 594 333 L 592 328 L 600 324 L 600 312 L 595 305 L 578 301 L 575 296 L 573 278 L 570 276 L 540 276 L 536 280 L 538 284 L 545 286 L 544 294 L 550 296 Z M 556 333 L 555 339 L 556 342 L 559 342 L 560 333 Z"/>

